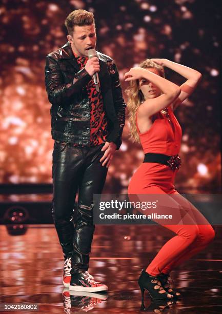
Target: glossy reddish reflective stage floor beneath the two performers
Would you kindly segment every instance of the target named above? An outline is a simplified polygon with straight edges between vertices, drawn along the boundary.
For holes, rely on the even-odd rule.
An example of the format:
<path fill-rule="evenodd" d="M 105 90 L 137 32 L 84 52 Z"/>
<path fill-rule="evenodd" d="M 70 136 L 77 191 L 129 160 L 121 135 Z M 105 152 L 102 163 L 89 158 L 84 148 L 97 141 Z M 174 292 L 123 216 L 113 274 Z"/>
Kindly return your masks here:
<path fill-rule="evenodd" d="M 214 242 L 172 271 L 180 299 L 154 303 L 146 294 L 141 308 L 137 278 L 174 235 L 170 230 L 155 225 L 96 226 L 89 271 L 108 285 L 106 295 L 64 288 L 63 255 L 53 225 L 1 225 L 0 303 L 37 303 L 42 313 L 221 313 L 221 231 L 222 226 L 215 226 Z"/>

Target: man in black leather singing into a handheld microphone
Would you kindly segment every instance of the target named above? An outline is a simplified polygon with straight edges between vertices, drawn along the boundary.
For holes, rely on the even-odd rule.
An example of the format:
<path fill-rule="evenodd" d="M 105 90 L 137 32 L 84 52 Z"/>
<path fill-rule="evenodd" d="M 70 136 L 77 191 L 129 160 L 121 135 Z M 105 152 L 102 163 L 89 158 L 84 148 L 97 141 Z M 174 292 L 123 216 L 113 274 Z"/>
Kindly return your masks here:
<path fill-rule="evenodd" d="M 52 215 L 64 253 L 64 285 L 95 292 L 108 287 L 87 271 L 94 232 L 93 194 L 102 193 L 108 166 L 121 145 L 126 105 L 113 60 L 100 52 L 87 57 L 96 46 L 93 13 L 75 10 L 65 25 L 68 42 L 47 55 L 45 67 L 54 139 Z M 92 79 L 96 72 L 99 92 Z"/>

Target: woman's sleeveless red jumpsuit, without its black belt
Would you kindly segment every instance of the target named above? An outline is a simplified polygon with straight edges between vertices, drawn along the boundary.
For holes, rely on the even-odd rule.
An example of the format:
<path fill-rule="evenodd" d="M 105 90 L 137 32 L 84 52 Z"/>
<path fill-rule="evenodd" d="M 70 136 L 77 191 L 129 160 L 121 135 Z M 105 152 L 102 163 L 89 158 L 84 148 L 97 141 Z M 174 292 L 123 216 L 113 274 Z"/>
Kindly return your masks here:
<path fill-rule="evenodd" d="M 172 124 L 164 114 L 158 112 L 148 131 L 140 133 L 137 126 L 145 153 L 166 155 L 179 153 L 181 127 L 171 106 L 168 107 L 168 112 Z M 168 199 L 167 201 L 169 208 L 172 208 L 173 215 L 180 214 L 181 209 L 185 209 L 187 212 L 186 224 L 158 222 L 175 232 L 176 235 L 165 243 L 148 265 L 146 271 L 152 276 L 157 276 L 160 272 L 169 273 L 176 266 L 203 250 L 214 239 L 214 230 L 206 218 L 175 190 L 174 178 L 177 171 L 163 164 L 142 163 L 133 174 L 128 187 L 129 200 L 134 200 L 134 196 L 130 194 L 171 194 L 171 200 Z"/>

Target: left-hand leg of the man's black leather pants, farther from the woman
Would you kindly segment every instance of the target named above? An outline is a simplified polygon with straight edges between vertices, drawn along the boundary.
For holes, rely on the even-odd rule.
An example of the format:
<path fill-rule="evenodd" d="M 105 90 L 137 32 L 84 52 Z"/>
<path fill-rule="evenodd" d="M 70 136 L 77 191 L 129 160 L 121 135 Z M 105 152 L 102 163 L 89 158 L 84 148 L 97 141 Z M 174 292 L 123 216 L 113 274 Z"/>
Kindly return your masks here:
<path fill-rule="evenodd" d="M 66 144 L 56 142 L 52 156 L 52 217 L 66 258 L 73 252 L 72 215 L 78 188 L 77 179 L 82 176 L 84 158 L 80 148 L 68 147 Z"/>

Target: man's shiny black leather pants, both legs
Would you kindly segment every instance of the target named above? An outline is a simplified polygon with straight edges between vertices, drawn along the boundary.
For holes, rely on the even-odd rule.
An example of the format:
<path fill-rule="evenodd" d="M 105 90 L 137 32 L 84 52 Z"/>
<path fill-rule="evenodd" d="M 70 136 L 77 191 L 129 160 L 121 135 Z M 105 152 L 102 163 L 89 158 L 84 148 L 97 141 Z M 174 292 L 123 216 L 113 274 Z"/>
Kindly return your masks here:
<path fill-rule="evenodd" d="M 74 147 L 54 143 L 52 216 L 64 257 L 72 257 L 73 274 L 89 267 L 95 229 L 93 194 L 102 193 L 108 170 L 99 162 L 104 144 Z M 78 202 L 74 209 L 77 190 Z"/>

